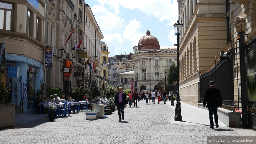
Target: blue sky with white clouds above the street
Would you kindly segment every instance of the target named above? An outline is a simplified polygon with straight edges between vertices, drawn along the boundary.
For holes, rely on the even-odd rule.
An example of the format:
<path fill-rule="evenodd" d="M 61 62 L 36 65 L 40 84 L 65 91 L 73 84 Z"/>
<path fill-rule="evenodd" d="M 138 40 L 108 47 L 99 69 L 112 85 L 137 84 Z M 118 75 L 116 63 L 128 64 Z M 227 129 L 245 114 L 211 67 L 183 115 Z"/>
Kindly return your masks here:
<path fill-rule="evenodd" d="M 173 25 L 178 3 L 173 0 L 85 0 L 92 9 L 109 49 L 109 57 L 133 53 L 133 47 L 147 30 L 160 46 L 177 43 Z"/>

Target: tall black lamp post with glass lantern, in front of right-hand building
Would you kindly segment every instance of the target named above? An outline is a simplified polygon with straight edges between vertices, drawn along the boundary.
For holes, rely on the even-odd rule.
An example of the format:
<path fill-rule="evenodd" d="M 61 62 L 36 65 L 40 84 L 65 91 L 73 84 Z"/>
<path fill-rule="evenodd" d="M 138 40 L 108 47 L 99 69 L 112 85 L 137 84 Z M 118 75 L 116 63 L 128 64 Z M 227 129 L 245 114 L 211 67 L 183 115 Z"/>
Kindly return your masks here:
<path fill-rule="evenodd" d="M 181 28 L 183 24 L 179 23 L 179 20 L 177 21 L 176 24 L 173 25 L 175 34 L 177 35 L 177 101 L 175 103 L 175 116 L 174 120 L 175 121 L 182 121 L 182 116 L 181 116 L 181 110 L 180 110 L 180 99 L 179 99 L 179 35 Z"/>

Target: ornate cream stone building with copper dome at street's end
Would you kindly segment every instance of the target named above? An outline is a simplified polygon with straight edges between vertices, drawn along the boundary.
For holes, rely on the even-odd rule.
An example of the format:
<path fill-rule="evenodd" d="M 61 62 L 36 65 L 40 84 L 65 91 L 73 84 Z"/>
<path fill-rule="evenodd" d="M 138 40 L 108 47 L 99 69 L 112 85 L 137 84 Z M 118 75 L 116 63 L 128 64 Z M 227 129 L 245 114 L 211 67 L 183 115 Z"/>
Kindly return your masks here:
<path fill-rule="evenodd" d="M 165 78 L 169 73 L 170 61 L 177 66 L 177 46 L 160 47 L 159 41 L 147 30 L 146 36 L 140 38 L 134 46 L 134 90 L 163 91 Z M 162 83 L 162 84 L 159 84 Z M 168 80 L 166 80 L 166 84 Z"/>

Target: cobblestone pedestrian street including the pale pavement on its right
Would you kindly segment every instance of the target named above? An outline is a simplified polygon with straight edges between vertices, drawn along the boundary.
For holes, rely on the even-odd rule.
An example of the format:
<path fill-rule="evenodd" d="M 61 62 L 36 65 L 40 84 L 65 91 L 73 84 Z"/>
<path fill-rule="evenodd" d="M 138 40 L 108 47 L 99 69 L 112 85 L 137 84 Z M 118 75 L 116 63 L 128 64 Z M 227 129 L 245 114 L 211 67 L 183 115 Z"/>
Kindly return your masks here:
<path fill-rule="evenodd" d="M 256 135 L 254 130 L 230 128 L 221 121 L 219 128 L 211 129 L 207 110 L 184 103 L 183 121 L 174 121 L 175 106 L 166 103 L 146 105 L 144 100 L 132 108 L 128 104 L 123 122 L 118 122 L 117 110 L 97 120 L 86 120 L 85 112 L 79 111 L 71 117 L 55 117 L 54 122 L 45 114 L 19 113 L 14 127 L 0 129 L 0 143 L 207 143 L 207 136 Z"/>

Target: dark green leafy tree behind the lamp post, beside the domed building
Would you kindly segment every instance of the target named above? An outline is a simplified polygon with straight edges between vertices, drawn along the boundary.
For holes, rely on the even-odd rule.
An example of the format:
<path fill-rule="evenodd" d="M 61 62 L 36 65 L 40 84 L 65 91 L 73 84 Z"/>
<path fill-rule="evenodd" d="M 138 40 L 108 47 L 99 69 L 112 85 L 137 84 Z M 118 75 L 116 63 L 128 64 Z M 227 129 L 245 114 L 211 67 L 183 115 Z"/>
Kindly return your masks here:
<path fill-rule="evenodd" d="M 173 91 L 173 83 L 177 81 L 177 66 L 175 63 L 172 63 L 170 70 L 167 76 L 168 84 L 166 84 L 166 92 Z"/>

